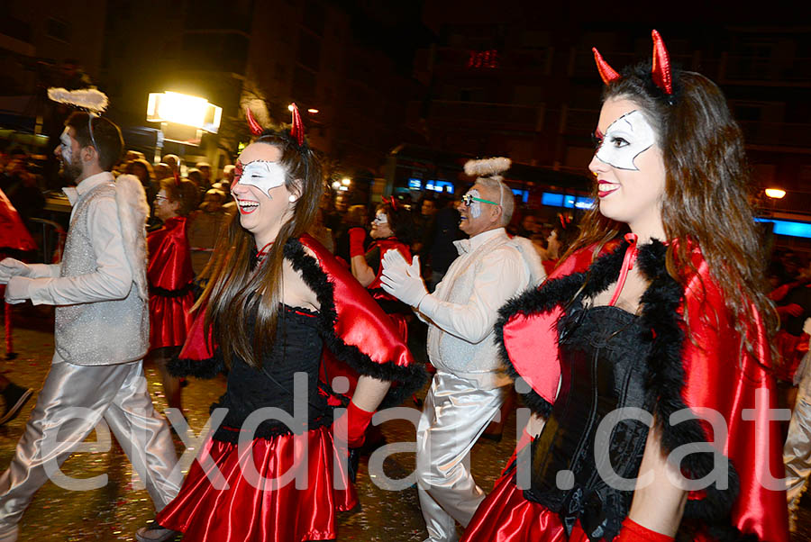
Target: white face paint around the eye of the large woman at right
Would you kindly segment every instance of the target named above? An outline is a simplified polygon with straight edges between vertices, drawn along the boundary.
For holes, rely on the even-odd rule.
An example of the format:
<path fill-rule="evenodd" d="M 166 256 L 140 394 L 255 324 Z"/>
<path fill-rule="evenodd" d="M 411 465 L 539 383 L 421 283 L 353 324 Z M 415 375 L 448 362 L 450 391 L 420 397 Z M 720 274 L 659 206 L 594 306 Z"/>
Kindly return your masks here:
<path fill-rule="evenodd" d="M 642 112 L 633 110 L 612 122 L 597 149 L 597 159 L 617 169 L 639 171 L 633 159 L 656 143 L 656 132 Z"/>

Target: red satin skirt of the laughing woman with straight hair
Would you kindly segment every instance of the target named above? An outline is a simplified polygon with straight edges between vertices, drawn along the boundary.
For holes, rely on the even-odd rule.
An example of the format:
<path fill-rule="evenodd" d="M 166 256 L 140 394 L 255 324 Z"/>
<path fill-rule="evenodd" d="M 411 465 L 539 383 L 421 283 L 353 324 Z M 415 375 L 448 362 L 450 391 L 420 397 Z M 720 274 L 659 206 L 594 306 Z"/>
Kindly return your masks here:
<path fill-rule="evenodd" d="M 236 444 L 209 438 L 202 453 L 211 456 L 227 488 L 216 489 L 195 459 L 178 496 L 160 510 L 159 524 L 184 532 L 184 542 L 299 542 L 336 538 L 337 511 L 354 508 L 358 496 L 344 471 L 334 476 L 341 478 L 340 487 L 347 489 L 333 487 L 330 429 L 313 429 L 306 438 L 307 475 L 300 475 L 298 482 L 304 489 L 296 488 L 292 474 L 287 483 L 281 480 L 276 484 L 269 480 L 257 483 L 255 475 L 281 478 L 301 464 L 301 445 L 296 444 L 298 439 L 293 436 L 256 438 L 243 457 L 239 456 Z M 250 465 L 248 454 L 252 455 L 255 473 L 251 473 L 250 466 L 247 469 L 243 466 Z"/>

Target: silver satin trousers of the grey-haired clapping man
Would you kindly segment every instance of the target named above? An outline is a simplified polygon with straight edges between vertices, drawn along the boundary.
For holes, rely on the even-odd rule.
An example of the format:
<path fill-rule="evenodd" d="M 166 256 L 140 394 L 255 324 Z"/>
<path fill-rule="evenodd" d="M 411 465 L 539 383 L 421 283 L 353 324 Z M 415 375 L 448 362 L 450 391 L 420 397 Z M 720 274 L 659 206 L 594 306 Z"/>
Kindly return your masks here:
<path fill-rule="evenodd" d="M 416 478 L 428 540 L 454 542 L 485 494 L 470 474 L 470 448 L 504 402 L 505 388 L 437 371 L 417 426 Z"/>

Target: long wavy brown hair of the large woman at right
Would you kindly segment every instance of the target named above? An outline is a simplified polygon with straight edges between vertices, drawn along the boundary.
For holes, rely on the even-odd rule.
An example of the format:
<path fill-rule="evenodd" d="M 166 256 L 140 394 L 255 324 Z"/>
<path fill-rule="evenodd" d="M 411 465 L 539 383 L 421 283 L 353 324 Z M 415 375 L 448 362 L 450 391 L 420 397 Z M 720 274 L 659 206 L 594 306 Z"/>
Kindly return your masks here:
<path fill-rule="evenodd" d="M 734 315 L 735 330 L 752 352 L 746 329 L 755 321 L 754 312 L 770 333 L 778 322 L 766 295 L 765 243 L 749 204 L 752 185 L 743 133 L 724 94 L 706 77 L 674 70 L 675 95 L 669 102 L 650 73 L 650 63 L 625 68 L 622 77 L 605 87 L 603 102 L 632 101 L 656 131 L 666 171 L 661 221 L 668 239 L 680 241 L 668 248 L 670 276 L 681 285 L 694 276 L 690 252 L 697 245 Z M 597 202 L 597 185 L 594 192 Z M 601 246 L 626 230 L 624 223 L 600 214 L 595 204 L 567 256 L 595 243 Z"/>

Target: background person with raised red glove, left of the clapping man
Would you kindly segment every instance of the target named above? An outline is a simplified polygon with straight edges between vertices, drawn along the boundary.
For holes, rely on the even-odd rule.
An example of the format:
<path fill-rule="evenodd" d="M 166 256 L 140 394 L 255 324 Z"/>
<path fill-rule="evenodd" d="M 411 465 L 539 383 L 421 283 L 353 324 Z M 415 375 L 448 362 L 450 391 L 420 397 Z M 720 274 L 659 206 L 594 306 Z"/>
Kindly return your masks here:
<path fill-rule="evenodd" d="M 406 260 L 411 260 L 409 245 L 413 233 L 414 222 L 411 212 L 398 206 L 394 197 L 388 201 L 384 198 L 383 203 L 378 205 L 375 220 L 371 222 L 369 231 L 369 237 L 375 240 L 369 249 L 363 248 L 366 230 L 363 228 L 349 230 L 352 275 L 358 279 L 360 285 L 366 286 L 369 294 L 375 298 L 383 311 L 396 322 L 404 341 L 408 339 L 406 316 L 411 313 L 411 308 L 395 296 L 387 294 L 383 290 L 380 277 L 383 276 L 382 259 L 389 250 L 397 250 Z"/>

